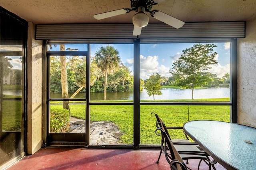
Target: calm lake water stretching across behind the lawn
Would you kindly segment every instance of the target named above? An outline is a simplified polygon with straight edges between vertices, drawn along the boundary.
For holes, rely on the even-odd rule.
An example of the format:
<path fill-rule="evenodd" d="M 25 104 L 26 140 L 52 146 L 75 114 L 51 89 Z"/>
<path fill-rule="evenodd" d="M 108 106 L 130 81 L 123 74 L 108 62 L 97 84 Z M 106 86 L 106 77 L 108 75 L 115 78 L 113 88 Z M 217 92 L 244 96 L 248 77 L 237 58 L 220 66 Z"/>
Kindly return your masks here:
<path fill-rule="evenodd" d="M 191 99 L 192 90 L 190 89 L 172 89 L 162 88 L 162 95 L 155 95 L 155 100 L 172 100 L 172 99 Z M 4 90 L 3 94 L 19 95 L 21 90 Z M 72 96 L 70 93 L 69 96 Z M 51 98 L 62 98 L 61 93 L 51 94 Z M 85 98 L 85 93 L 78 93 L 75 98 Z M 91 100 L 103 100 L 104 93 L 91 93 Z M 207 88 L 195 89 L 194 99 L 207 98 L 230 98 L 230 88 Z M 133 100 L 133 92 L 108 92 L 107 100 Z M 147 91 L 140 93 L 140 100 L 153 100 L 153 96 L 148 96 Z"/>

